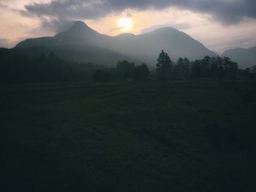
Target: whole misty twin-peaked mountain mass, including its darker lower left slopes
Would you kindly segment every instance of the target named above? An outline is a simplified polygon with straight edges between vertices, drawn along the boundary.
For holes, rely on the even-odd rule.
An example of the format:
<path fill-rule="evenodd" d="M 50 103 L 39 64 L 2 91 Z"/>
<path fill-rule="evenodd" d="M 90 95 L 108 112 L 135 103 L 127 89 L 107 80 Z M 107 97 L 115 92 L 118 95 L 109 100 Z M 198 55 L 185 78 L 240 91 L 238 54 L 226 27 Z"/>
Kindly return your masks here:
<path fill-rule="evenodd" d="M 146 62 L 153 67 L 161 50 L 165 50 L 173 61 L 178 57 L 195 60 L 205 55 L 217 55 L 175 28 L 160 28 L 140 35 L 120 34 L 110 37 L 99 34 L 81 21 L 75 22 L 71 28 L 55 37 L 26 39 L 15 48 L 32 54 L 34 47 L 37 50 L 41 48 L 42 51 L 54 51 L 65 59 L 107 66 L 116 65 L 118 60 L 126 59 L 135 63 Z M 28 49 L 29 52 L 26 51 Z"/>

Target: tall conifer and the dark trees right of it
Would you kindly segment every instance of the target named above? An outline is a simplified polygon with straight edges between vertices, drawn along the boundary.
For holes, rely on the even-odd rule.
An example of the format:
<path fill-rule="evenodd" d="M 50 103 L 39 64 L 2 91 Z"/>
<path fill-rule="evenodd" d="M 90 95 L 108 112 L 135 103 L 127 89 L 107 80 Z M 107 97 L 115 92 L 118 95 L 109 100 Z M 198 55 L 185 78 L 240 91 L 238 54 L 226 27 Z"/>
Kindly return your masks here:
<path fill-rule="evenodd" d="M 176 64 L 163 50 L 157 58 L 157 78 L 159 80 L 184 79 L 255 79 L 256 66 L 238 69 L 238 64 L 230 58 L 209 57 L 190 62 L 188 58 L 178 58 Z"/>

